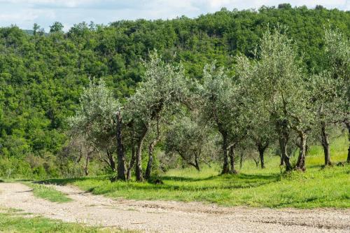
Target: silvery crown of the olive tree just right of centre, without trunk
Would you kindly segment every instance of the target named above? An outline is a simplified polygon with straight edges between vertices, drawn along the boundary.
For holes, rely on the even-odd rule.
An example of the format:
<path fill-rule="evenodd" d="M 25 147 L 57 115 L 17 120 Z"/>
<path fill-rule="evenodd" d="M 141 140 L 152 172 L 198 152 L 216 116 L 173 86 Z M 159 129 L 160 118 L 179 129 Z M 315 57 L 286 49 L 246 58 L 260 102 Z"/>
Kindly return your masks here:
<path fill-rule="evenodd" d="M 223 67 L 217 68 L 215 63 L 204 67 L 203 84 L 199 85 L 202 120 L 225 131 L 230 140 L 241 135 L 247 123 L 243 90 L 244 85 L 228 76 Z"/>

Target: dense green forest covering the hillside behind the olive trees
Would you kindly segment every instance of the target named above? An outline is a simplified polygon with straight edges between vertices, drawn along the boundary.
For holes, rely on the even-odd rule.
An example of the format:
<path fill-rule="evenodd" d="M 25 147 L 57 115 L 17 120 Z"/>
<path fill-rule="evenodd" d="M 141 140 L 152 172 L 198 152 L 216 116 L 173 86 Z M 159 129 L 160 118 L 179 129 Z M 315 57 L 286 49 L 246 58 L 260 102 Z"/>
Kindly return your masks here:
<path fill-rule="evenodd" d="M 16 26 L 0 28 L 0 176 L 83 172 L 76 155 L 68 151 L 68 119 L 79 110 L 90 80 L 104 80 L 123 103 L 134 94 L 145 73 L 143 60 L 153 50 L 165 62 L 181 62 L 188 79 L 202 82 L 204 66 L 214 60 L 235 73 L 235 56 L 253 58 L 262 34 L 278 24 L 288 27 L 286 34 L 295 41 L 304 72 L 310 75 L 321 73 L 327 63 L 324 27 L 350 36 L 349 11 L 288 4 L 258 10 L 223 8 L 195 19 L 118 21 L 108 26 L 82 22 L 67 32 L 55 22 L 48 34 L 38 25 L 31 34 Z"/>

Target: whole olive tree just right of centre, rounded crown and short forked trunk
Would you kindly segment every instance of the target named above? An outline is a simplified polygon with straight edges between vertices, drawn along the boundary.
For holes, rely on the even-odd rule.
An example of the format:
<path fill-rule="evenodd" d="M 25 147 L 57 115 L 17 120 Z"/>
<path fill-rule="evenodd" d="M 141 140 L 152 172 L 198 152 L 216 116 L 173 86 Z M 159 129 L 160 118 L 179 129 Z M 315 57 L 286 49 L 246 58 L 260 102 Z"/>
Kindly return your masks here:
<path fill-rule="evenodd" d="M 217 68 L 213 63 L 204 67 L 203 84 L 199 85 L 199 92 L 203 122 L 216 128 L 222 137 L 222 173 L 237 173 L 235 148 L 248 131 L 242 85 L 239 80 L 230 77 L 227 70 Z"/>

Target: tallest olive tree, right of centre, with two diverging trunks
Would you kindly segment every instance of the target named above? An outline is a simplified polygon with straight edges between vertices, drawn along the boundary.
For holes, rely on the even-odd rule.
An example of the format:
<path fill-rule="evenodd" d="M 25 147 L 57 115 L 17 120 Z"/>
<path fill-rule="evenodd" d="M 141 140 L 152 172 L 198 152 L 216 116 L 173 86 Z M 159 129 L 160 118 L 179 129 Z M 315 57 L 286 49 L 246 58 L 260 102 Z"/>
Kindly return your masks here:
<path fill-rule="evenodd" d="M 258 108 L 269 113 L 269 118 L 279 141 L 281 156 L 286 170 L 292 169 L 287 153 L 290 130 L 300 137 L 300 156 L 297 167 L 304 170 L 307 133 L 313 114 L 309 111 L 311 97 L 307 91 L 307 78 L 302 72 L 295 47 L 282 27 L 263 34 L 255 61 L 240 57 L 241 72 L 246 73 L 251 84 L 251 97 Z"/>

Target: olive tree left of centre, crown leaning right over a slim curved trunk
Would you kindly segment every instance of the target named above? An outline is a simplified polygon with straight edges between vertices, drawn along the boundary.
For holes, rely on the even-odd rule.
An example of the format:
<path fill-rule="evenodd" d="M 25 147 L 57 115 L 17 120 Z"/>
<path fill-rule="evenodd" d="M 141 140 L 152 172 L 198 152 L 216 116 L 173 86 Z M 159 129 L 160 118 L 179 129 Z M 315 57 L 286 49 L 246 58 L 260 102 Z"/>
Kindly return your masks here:
<path fill-rule="evenodd" d="M 143 181 L 142 148 L 146 135 L 154 122 L 176 111 L 177 105 L 188 96 L 183 66 L 166 64 L 153 52 L 148 62 L 144 62 L 146 71 L 143 82 L 132 97 L 127 100 L 125 109 L 137 132 L 137 150 L 135 173 L 137 181 Z"/>

